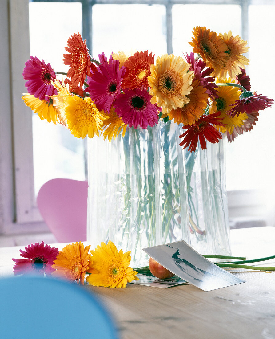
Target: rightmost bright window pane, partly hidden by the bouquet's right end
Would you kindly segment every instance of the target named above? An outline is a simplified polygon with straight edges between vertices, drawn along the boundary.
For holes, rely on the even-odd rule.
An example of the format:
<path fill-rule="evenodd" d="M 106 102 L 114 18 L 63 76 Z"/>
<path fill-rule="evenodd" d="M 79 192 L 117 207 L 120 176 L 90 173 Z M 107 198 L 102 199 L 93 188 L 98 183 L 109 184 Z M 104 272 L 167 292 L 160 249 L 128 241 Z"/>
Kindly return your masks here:
<path fill-rule="evenodd" d="M 251 90 L 275 99 L 275 72 L 270 56 L 274 55 L 275 30 L 274 5 L 249 6 L 249 71 Z M 260 29 L 259 29 L 260 27 Z M 275 108 L 259 112 L 257 125 L 253 130 L 229 144 L 227 147 L 228 184 L 231 189 L 262 189 L 274 191 L 275 154 L 272 124 Z M 271 128 L 270 128 L 271 127 Z"/>

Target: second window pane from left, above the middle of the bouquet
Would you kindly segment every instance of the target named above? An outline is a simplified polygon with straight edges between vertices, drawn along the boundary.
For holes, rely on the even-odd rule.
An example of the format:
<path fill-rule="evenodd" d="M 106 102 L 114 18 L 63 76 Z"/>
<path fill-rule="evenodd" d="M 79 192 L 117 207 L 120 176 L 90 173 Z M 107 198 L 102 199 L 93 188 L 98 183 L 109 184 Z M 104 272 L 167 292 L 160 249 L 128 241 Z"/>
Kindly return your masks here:
<path fill-rule="evenodd" d="M 165 7 L 162 5 L 94 5 L 93 56 L 104 52 L 166 53 Z"/>

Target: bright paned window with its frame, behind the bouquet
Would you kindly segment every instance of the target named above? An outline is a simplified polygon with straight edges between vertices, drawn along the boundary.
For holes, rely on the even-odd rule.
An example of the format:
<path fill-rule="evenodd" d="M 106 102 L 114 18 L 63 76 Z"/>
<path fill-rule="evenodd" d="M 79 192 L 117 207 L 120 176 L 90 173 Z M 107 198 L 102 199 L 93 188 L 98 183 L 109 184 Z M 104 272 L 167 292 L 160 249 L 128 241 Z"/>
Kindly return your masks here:
<path fill-rule="evenodd" d="M 0 124 L 0 231 L 22 232 L 20 225 L 27 225 L 28 230 L 41 230 L 44 226 L 35 196 L 43 182 L 58 176 L 85 179 L 85 142 L 73 138 L 61 126 L 51 126 L 37 116 L 31 117 L 29 108 L 21 100 L 24 91 L 21 74 L 29 55 L 35 54 L 51 63 L 55 70 L 66 71 L 62 55 L 68 37 L 74 32 L 83 31 L 90 52 L 96 57 L 102 51 L 108 55 L 131 48 L 149 49 L 156 55 L 166 52 L 181 55 L 191 51 L 187 42 L 194 26 L 205 25 L 222 33 L 231 29 L 234 35 L 248 40 L 250 66 L 247 70 L 252 89 L 274 98 L 271 85 L 274 69 L 270 56 L 274 54 L 275 1 L 137 2 L 138 5 L 130 0 L 95 0 L 90 4 L 87 0 L 34 0 L 29 4 L 28 0 L 4 0 L 0 25 L 1 31 L 8 34 L 1 35 L 1 46 L 5 48 L 0 53 L 3 76 L 8 81 L 1 83 L 0 92 L 3 102 L 0 108 L 3 116 Z M 42 32 L 42 29 L 45 30 Z M 11 97 L 10 102 L 2 99 L 7 97 Z M 228 144 L 227 188 L 233 192 L 234 201 L 239 201 L 236 195 L 251 192 L 251 189 L 264 187 L 267 192 L 274 191 L 270 187 L 274 187 L 275 157 L 274 152 L 269 151 L 273 141 L 270 128 L 273 114 L 274 108 L 262 112 L 251 132 Z M 66 173 L 63 172 L 65 168 L 68 169 Z M 257 201 L 249 194 L 254 216 L 267 215 L 268 208 L 273 206 L 259 201 L 258 195 L 255 197 Z M 269 201 L 271 198 L 268 196 Z M 257 212 L 255 206 L 260 206 L 260 211 Z M 245 213 L 251 213 L 249 211 Z"/>

